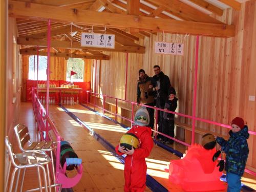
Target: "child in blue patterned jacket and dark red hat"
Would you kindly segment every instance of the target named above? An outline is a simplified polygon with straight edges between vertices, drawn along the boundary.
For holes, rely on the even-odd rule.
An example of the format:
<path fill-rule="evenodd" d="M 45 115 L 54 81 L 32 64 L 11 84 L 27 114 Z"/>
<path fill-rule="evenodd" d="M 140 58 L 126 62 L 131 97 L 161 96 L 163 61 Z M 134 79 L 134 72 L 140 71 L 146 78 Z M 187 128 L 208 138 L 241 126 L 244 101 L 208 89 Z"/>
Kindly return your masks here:
<path fill-rule="evenodd" d="M 236 117 L 231 122 L 232 130 L 229 131 L 229 139 L 216 137 L 221 145 L 221 151 L 226 154 L 225 170 L 227 174 L 228 192 L 240 192 L 241 177 L 249 153 L 247 139 L 249 138 L 248 127 L 244 120 Z"/>

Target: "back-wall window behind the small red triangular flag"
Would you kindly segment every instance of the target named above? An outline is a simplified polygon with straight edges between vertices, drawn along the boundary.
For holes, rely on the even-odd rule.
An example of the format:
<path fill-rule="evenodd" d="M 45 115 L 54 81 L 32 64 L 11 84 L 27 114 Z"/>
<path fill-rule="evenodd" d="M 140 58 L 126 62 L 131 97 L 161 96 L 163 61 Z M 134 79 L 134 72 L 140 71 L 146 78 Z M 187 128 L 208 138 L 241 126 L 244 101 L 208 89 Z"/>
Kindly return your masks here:
<path fill-rule="evenodd" d="M 83 81 L 83 70 L 84 69 L 84 61 L 83 59 L 77 58 L 69 58 L 67 60 L 67 81 Z M 72 79 L 70 79 L 70 71 L 74 71 L 76 74 L 72 75 Z"/>

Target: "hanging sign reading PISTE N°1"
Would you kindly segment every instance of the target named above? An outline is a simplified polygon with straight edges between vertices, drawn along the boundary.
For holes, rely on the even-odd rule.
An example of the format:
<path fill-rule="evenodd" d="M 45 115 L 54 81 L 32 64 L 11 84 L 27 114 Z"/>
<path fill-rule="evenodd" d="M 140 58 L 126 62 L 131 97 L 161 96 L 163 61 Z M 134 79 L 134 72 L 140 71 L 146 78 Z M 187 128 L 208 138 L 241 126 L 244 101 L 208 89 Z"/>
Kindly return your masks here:
<path fill-rule="evenodd" d="M 155 53 L 183 55 L 184 54 L 184 44 L 180 44 L 180 43 L 176 43 L 176 42 L 155 41 Z"/>

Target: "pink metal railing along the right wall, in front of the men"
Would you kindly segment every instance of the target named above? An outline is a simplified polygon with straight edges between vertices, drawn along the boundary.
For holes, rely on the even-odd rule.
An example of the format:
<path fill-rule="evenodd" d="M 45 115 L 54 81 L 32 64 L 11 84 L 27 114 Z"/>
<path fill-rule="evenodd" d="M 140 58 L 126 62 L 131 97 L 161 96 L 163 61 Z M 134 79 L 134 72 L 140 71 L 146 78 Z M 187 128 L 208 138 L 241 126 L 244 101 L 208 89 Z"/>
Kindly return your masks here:
<path fill-rule="evenodd" d="M 91 93 L 91 94 L 94 95 L 94 97 L 95 97 L 95 98 L 94 98 L 94 110 L 95 110 L 95 107 L 97 107 L 97 108 L 99 108 L 99 109 L 102 109 L 103 112 L 108 112 L 108 113 L 110 113 L 110 114 L 112 114 L 112 115 L 115 115 L 115 120 L 117 120 L 117 117 L 120 117 L 120 118 L 122 118 L 122 119 L 125 119 L 125 120 L 131 122 L 131 126 L 132 126 L 132 123 L 134 122 L 134 121 L 133 121 L 134 105 L 137 105 L 136 102 L 133 102 L 133 101 L 130 101 L 130 100 L 119 99 L 119 98 L 116 98 L 116 97 L 112 97 L 112 96 L 108 96 L 108 95 L 103 95 L 103 94 L 99 94 L 99 93 L 94 93 L 94 92 L 91 92 L 91 91 L 86 91 L 86 92 L 87 92 L 87 104 L 89 103 L 89 93 Z M 98 97 L 99 97 L 99 96 L 102 96 L 102 97 L 103 97 L 103 104 L 102 104 L 103 107 L 96 105 L 96 95 L 97 95 Z M 110 111 L 108 111 L 108 110 L 105 109 L 105 104 L 104 104 L 104 103 L 105 103 L 105 98 L 112 98 L 112 99 L 115 99 L 115 100 L 116 100 L 116 110 L 115 110 L 115 113 L 110 112 Z M 121 115 L 119 115 L 119 114 L 117 113 L 117 109 L 118 109 L 118 102 L 117 102 L 117 101 L 118 101 L 118 100 L 132 104 L 132 115 L 131 115 L 131 119 L 126 118 L 126 117 L 122 117 Z M 155 110 L 156 110 L 156 113 L 155 113 L 155 114 L 156 114 L 156 122 L 158 122 L 158 111 L 163 111 L 163 112 L 167 112 L 167 113 L 176 114 L 176 115 L 179 115 L 179 116 L 182 116 L 182 117 L 186 117 L 186 118 L 189 118 L 189 119 L 194 119 L 195 121 L 196 121 L 196 120 L 197 120 L 197 121 L 202 121 L 202 122 L 206 122 L 206 123 L 209 123 L 209 124 L 214 124 L 214 125 L 218 125 L 218 126 L 222 126 L 222 127 L 226 127 L 226 128 L 228 128 L 228 129 L 231 129 L 231 126 L 230 126 L 230 125 L 223 124 L 223 123 L 219 123 L 219 122 L 215 122 L 215 121 L 210 121 L 210 120 L 207 120 L 207 119 L 202 119 L 202 118 L 199 118 L 199 117 L 196 117 L 196 116 L 191 116 L 191 115 L 186 115 L 186 114 L 177 113 L 177 112 L 173 112 L 173 111 L 163 110 L 163 109 L 160 109 L 160 108 L 156 108 L 156 107 L 154 107 L 154 106 L 148 106 L 148 105 L 144 105 L 144 104 L 140 104 L 140 106 L 146 106 L 147 108 L 155 109 Z M 195 127 L 194 127 L 194 128 L 195 128 Z M 253 132 L 253 131 L 248 131 L 248 132 L 249 132 L 249 134 L 251 134 L 251 135 L 256 135 L 256 132 Z M 176 142 L 179 142 L 179 143 L 181 143 L 181 144 L 183 144 L 183 145 L 185 145 L 185 146 L 190 146 L 190 144 L 188 144 L 188 143 L 185 143 L 185 142 L 183 142 L 183 141 L 180 141 L 180 140 L 178 140 L 178 139 L 175 139 L 175 138 L 173 138 L 173 137 L 170 137 L 170 136 L 168 136 L 168 135 L 165 135 L 165 134 L 159 132 L 159 131 L 158 131 L 158 124 L 157 124 L 157 123 L 155 123 L 155 127 L 154 127 L 154 136 L 155 136 L 155 138 L 156 138 L 156 134 L 163 135 L 163 136 L 165 136 L 165 137 L 167 137 L 167 138 L 169 138 L 169 139 L 172 139 L 172 140 L 174 140 L 174 141 L 176 141 Z M 195 132 L 194 132 L 194 134 L 195 134 Z M 193 136 L 192 136 L 192 138 L 193 138 Z M 252 170 L 249 170 L 249 169 L 247 169 L 247 168 L 245 169 L 245 172 L 247 172 L 247 173 L 249 173 L 249 174 L 251 174 L 251 175 L 256 176 L 256 173 L 255 173 L 255 172 L 253 172 Z"/>

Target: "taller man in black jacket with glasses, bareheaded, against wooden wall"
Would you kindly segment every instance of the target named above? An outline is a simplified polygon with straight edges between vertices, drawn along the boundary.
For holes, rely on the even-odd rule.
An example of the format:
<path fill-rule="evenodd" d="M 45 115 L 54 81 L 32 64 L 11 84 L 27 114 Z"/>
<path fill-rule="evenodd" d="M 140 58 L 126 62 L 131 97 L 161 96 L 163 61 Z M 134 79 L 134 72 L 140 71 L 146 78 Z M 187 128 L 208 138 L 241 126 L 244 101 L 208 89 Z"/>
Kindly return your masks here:
<path fill-rule="evenodd" d="M 153 76 L 153 79 L 157 82 L 156 91 L 156 107 L 164 109 L 165 100 L 168 97 L 168 89 L 170 87 L 170 80 L 167 75 L 161 71 L 159 66 L 154 66 L 154 72 L 156 75 Z M 163 112 L 158 111 L 158 131 L 163 132 Z M 162 139 L 161 135 L 158 135 L 158 138 Z"/>

